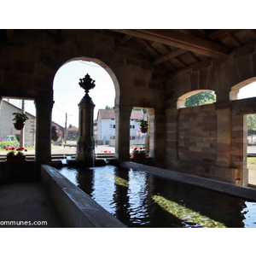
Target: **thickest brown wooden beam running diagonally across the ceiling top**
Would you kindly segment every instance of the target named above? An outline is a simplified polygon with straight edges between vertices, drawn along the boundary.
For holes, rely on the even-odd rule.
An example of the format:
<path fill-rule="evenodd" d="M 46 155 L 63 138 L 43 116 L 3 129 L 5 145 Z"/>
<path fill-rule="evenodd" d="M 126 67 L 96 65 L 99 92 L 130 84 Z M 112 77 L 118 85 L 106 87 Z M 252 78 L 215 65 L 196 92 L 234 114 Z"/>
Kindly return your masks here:
<path fill-rule="evenodd" d="M 189 50 L 201 55 L 218 58 L 228 55 L 229 49 L 223 45 L 215 44 L 203 38 L 196 38 L 174 30 L 167 29 L 117 29 L 115 32 L 125 33 L 137 38 L 144 38 L 160 44 L 170 45 L 180 49 Z"/>

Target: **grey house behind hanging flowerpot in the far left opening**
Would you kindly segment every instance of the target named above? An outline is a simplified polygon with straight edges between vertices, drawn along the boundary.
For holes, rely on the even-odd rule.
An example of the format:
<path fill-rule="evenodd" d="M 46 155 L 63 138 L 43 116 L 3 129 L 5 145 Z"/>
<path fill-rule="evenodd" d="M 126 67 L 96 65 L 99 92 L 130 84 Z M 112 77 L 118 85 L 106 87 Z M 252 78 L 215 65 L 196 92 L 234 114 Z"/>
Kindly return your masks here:
<path fill-rule="evenodd" d="M 4 101 L 1 105 L 0 111 L 0 141 L 6 139 L 9 135 L 15 135 L 17 139 L 20 138 L 20 131 L 15 129 L 13 113 L 22 112 L 20 108 L 15 105 Z M 35 146 L 35 135 L 36 135 L 36 117 L 31 113 L 27 113 L 28 120 L 26 120 L 24 128 L 24 146 L 34 147 Z"/>

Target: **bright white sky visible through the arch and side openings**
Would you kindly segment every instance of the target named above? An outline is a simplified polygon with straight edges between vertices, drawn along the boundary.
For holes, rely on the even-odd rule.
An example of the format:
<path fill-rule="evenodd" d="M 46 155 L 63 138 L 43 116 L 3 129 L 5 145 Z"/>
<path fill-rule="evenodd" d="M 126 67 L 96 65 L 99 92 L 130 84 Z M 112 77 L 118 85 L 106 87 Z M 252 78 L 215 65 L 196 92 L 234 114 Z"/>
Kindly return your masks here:
<path fill-rule="evenodd" d="M 67 113 L 67 127 L 74 125 L 79 127 L 79 107 L 78 104 L 84 96 L 84 89 L 79 86 L 79 79 L 83 79 L 86 74 L 96 80 L 96 87 L 89 92 L 89 96 L 94 102 L 94 119 L 96 119 L 98 109 L 114 107 L 115 90 L 113 81 L 104 68 L 94 62 L 71 61 L 60 67 L 54 79 L 54 107 L 52 109 L 52 120 L 65 127 Z M 248 84 L 239 90 L 238 99 L 256 96 L 256 82 Z M 20 100 L 9 100 L 10 103 L 21 108 Z M 36 115 L 33 101 L 25 102 L 25 110 Z"/>

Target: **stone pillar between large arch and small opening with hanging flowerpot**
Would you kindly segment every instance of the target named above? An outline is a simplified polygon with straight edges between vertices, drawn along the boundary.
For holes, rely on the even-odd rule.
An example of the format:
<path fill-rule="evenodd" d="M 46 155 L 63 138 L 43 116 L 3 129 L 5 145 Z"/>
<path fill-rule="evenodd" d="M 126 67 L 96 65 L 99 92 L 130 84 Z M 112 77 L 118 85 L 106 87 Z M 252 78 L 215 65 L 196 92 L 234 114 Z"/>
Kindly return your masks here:
<path fill-rule="evenodd" d="M 115 158 L 130 159 L 130 120 L 132 107 L 114 108 L 115 113 Z"/>

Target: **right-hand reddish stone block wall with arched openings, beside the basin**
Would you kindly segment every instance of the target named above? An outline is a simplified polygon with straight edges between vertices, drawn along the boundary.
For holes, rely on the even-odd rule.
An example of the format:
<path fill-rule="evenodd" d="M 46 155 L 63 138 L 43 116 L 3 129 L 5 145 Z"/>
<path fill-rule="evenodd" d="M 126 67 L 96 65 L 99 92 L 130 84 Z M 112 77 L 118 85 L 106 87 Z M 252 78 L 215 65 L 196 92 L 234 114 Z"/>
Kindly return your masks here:
<path fill-rule="evenodd" d="M 166 80 L 166 167 L 201 177 L 247 185 L 245 115 L 255 99 L 236 100 L 256 80 L 255 45 L 227 57 L 202 61 Z M 177 109 L 178 99 L 195 90 L 213 90 L 217 102 Z"/>

